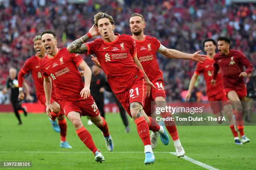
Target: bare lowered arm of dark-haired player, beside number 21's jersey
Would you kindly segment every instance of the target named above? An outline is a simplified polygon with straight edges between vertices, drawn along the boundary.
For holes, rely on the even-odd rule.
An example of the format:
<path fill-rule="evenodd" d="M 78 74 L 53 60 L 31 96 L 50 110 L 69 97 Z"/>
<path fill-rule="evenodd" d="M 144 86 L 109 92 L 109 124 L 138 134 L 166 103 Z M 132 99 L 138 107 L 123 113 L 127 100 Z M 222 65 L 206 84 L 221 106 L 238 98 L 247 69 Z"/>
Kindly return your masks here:
<path fill-rule="evenodd" d="M 81 90 L 81 97 L 87 98 L 90 97 L 90 84 L 92 78 L 92 71 L 86 62 L 82 61 L 78 67 L 84 71 L 84 88 Z"/>

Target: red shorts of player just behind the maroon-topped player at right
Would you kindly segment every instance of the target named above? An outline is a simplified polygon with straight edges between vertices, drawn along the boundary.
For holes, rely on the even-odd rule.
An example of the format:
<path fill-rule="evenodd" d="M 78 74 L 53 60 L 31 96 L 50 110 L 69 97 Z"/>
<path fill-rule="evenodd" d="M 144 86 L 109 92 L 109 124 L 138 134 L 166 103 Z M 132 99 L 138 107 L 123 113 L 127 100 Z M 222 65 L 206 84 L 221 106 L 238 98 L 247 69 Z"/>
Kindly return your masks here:
<path fill-rule="evenodd" d="M 210 97 L 208 97 L 208 100 L 210 102 L 210 106 L 212 108 L 212 112 L 213 112 L 214 115 L 221 112 L 221 110 L 223 109 L 223 107 L 225 105 L 230 104 L 230 102 L 228 101 L 228 98 L 227 98 L 227 96 L 225 95 L 224 92 L 219 93 L 219 94 L 214 95 L 214 96 L 210 96 Z"/>

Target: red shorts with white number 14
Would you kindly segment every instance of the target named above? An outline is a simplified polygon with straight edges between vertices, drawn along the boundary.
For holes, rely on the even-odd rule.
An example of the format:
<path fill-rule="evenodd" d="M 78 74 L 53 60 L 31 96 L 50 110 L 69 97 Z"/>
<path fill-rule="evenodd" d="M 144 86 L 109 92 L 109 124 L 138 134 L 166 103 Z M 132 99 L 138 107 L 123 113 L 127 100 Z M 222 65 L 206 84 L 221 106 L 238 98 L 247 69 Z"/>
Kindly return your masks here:
<path fill-rule="evenodd" d="M 146 97 L 145 107 L 143 109 L 146 112 L 146 115 L 150 117 L 151 117 L 151 110 L 154 110 L 155 108 L 155 102 L 152 102 L 152 101 L 154 101 L 156 97 L 164 97 L 164 98 L 166 97 L 165 90 L 164 90 L 164 81 L 156 80 L 152 83 L 154 84 L 156 89 L 151 87 L 150 96 Z"/>

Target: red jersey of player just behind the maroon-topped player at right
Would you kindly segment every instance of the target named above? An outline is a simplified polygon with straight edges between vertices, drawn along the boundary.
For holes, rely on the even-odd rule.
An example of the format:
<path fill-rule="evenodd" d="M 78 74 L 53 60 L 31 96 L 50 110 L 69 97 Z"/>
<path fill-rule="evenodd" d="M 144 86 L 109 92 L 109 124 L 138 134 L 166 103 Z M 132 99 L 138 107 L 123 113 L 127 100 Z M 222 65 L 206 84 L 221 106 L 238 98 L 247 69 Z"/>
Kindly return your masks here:
<path fill-rule="evenodd" d="M 221 72 L 218 72 L 216 77 L 216 85 L 211 85 L 214 71 L 213 63 L 213 59 L 207 58 L 207 60 L 202 63 L 197 62 L 197 67 L 195 69 L 195 74 L 199 75 L 203 73 L 205 77 L 207 97 L 217 95 L 218 93 L 223 93 L 223 80 L 221 77 Z"/>

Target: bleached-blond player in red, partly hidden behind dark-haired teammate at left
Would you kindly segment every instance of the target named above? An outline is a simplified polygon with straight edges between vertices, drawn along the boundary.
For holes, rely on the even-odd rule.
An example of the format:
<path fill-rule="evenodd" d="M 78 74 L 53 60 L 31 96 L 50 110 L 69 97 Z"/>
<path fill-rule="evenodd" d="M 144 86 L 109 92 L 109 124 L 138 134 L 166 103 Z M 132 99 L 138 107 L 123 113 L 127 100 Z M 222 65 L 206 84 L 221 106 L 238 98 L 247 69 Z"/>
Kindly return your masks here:
<path fill-rule="evenodd" d="M 36 97 L 38 101 L 42 105 L 46 105 L 46 99 L 44 95 L 44 78 L 42 76 L 42 72 L 39 68 L 39 62 L 45 57 L 45 49 L 42 45 L 41 35 L 37 35 L 33 38 L 34 42 L 34 50 L 36 52 L 36 55 L 30 57 L 26 62 L 24 63 L 23 67 L 21 68 L 19 74 L 18 74 L 18 83 L 19 83 L 19 98 L 24 98 L 24 93 L 22 90 L 22 84 L 24 80 L 24 75 L 31 72 L 31 75 L 33 77 L 35 87 L 36 87 Z M 53 112 L 51 113 L 51 117 L 49 117 L 49 120 L 51 122 L 52 128 L 57 133 L 60 133 L 60 147 L 61 148 L 72 148 L 69 143 L 66 141 L 67 136 L 67 122 L 64 117 L 64 112 L 61 110 L 59 104 L 56 102 L 57 99 L 55 97 L 54 90 L 52 90 L 51 93 L 51 105 L 53 107 Z M 56 117 L 58 119 L 59 125 L 56 121 Z"/>

